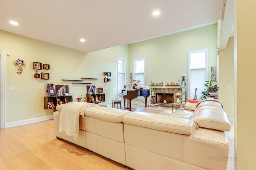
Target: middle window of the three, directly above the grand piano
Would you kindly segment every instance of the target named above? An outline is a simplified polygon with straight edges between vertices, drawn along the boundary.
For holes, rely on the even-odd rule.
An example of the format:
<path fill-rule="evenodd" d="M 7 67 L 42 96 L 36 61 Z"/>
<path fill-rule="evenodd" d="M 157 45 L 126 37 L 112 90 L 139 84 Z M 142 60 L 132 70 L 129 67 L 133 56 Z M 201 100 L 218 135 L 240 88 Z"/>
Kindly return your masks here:
<path fill-rule="evenodd" d="M 145 82 L 145 59 L 134 60 L 134 80 L 140 80 L 140 84 Z"/>

